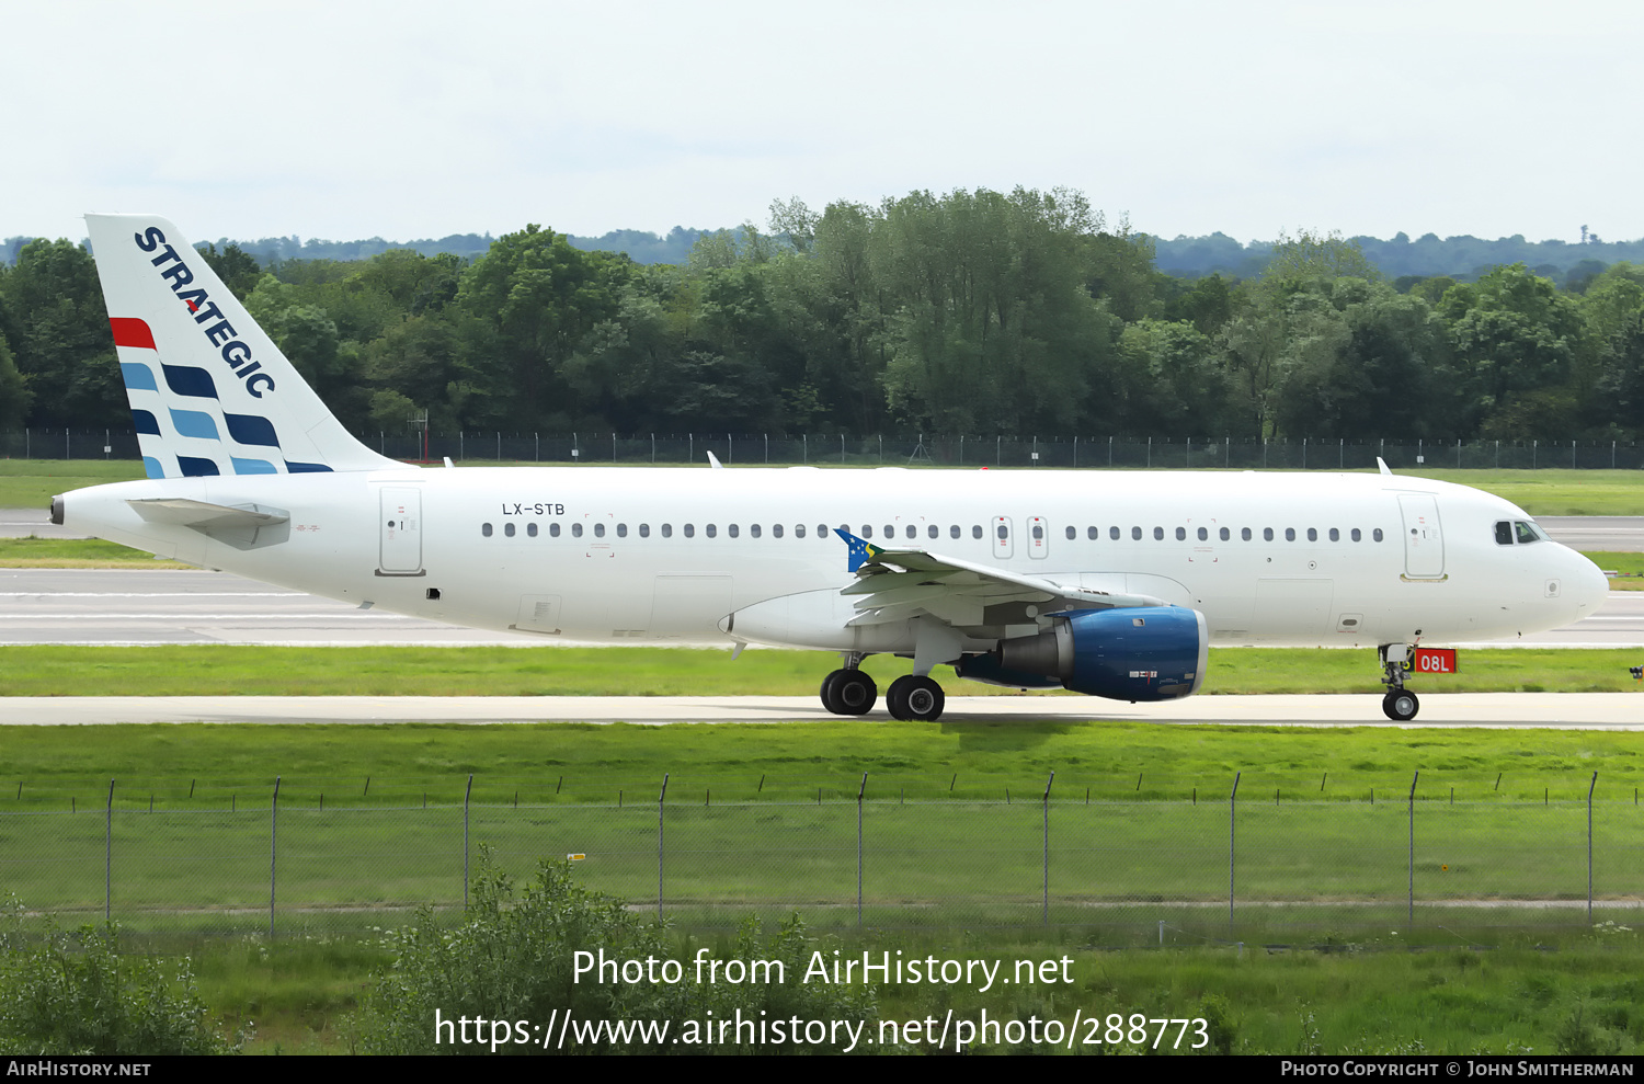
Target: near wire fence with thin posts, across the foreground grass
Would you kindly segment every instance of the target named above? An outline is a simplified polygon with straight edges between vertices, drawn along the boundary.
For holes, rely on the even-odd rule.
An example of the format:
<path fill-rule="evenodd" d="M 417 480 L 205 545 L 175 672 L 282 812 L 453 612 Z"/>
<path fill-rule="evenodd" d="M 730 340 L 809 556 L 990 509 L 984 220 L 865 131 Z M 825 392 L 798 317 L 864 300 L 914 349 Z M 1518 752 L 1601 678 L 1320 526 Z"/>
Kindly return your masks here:
<path fill-rule="evenodd" d="M 1595 776 L 1596 785 L 1596 776 Z M 399 796 L 403 798 L 403 794 Z M 638 799 L 636 799 L 638 798 Z M 390 799 L 398 801 L 398 799 Z M 1595 799 L 1253 794 L 907 801 L 819 790 L 613 803 L 329 806 L 273 793 L 0 811 L 0 893 L 148 933 L 363 931 L 459 913 L 482 849 L 689 928 L 801 911 L 820 929 L 1080 926 L 1097 943 L 1287 941 L 1644 920 L 1644 809 Z"/>

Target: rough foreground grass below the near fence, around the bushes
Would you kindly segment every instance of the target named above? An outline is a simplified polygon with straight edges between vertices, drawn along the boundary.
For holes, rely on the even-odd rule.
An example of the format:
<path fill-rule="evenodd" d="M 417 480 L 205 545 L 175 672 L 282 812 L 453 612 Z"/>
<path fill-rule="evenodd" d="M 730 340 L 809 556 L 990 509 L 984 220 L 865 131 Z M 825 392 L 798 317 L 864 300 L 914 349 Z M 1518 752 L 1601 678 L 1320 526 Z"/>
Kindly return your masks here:
<path fill-rule="evenodd" d="M 1055 1018 L 1072 1023 L 1108 1013 L 1149 1018 L 1217 1017 L 1217 1035 L 1238 1054 L 1427 1053 L 1559 1054 L 1637 1053 L 1644 1045 L 1644 941 L 1601 926 L 1534 934 L 1415 933 L 1383 924 L 1366 933 L 1322 933 L 1294 941 L 1195 944 L 1166 931 L 1166 946 L 1100 951 L 1080 929 L 947 933 L 840 933 L 817 947 L 860 959 L 901 951 L 986 959 L 1013 974 L 1018 961 L 1057 961 L 1070 984 L 881 985 L 880 1020 Z M 690 961 L 699 946 L 730 956 L 722 936 L 674 934 L 671 956 Z M 1415 947 L 1420 946 L 1420 947 Z M 255 1021 L 248 1053 L 349 1053 L 350 1013 L 373 974 L 390 962 L 372 938 L 217 938 L 184 941 L 202 998 L 232 1033 Z M 1060 974 L 1057 975 L 1060 977 Z M 1192 1028 L 1190 1028 L 1192 1031 Z M 1085 1038 L 1080 1028 L 1078 1038 Z M 1103 1031 L 1097 1031 L 1101 1036 Z M 1166 1038 L 1169 1046 L 1175 1028 Z M 1151 1035 L 1149 1035 L 1151 1038 Z M 1189 1038 L 1185 1045 L 1195 1041 Z M 1006 1053 L 988 1043 L 978 1053 Z M 1082 1053 L 1098 1046 L 1077 1045 Z"/>

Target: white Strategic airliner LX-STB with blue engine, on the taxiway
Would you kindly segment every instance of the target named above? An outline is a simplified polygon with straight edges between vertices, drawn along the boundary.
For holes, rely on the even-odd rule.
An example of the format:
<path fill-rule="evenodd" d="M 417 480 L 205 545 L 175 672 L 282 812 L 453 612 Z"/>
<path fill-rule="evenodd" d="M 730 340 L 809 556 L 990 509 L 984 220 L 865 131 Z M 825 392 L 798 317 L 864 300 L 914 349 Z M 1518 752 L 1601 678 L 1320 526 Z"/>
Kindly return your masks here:
<path fill-rule="evenodd" d="M 145 480 L 51 520 L 270 584 L 544 642 L 835 651 L 1131 702 L 1198 693 L 1218 645 L 1374 646 L 1419 711 L 1420 645 L 1572 623 L 1603 572 L 1489 493 L 1378 474 L 988 469 L 424 469 L 357 441 L 178 229 L 87 215 Z M 735 653 L 733 653 L 735 655 Z"/>

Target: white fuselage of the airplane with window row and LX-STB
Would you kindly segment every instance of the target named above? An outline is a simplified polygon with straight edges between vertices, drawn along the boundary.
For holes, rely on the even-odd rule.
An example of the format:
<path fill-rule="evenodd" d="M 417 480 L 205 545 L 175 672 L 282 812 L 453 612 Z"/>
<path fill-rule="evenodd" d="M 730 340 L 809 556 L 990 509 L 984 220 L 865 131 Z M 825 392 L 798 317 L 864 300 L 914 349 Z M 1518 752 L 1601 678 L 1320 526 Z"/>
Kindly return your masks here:
<path fill-rule="evenodd" d="M 127 503 L 156 497 L 289 521 L 210 535 Z M 1529 517 L 1463 485 L 1373 474 L 404 467 L 64 497 L 69 526 L 112 541 L 459 625 L 871 651 L 911 651 L 912 633 L 853 640 L 832 617 L 848 617 L 834 599 L 853 579 L 835 526 L 1192 607 L 1228 645 L 1443 643 L 1591 614 L 1603 574 L 1552 541 L 1499 543 L 1503 520 Z M 791 595 L 824 604 L 774 633 L 730 620 Z"/>

